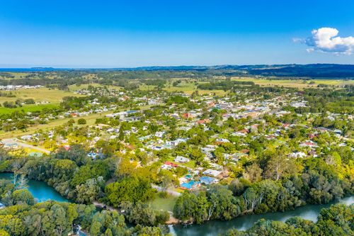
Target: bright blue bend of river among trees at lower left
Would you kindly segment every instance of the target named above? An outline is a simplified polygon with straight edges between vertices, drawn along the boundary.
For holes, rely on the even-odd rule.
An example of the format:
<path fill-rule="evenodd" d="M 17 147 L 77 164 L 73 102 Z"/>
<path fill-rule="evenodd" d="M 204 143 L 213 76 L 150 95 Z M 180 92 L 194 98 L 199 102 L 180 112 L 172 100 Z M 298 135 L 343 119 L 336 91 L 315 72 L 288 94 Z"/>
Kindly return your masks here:
<path fill-rule="evenodd" d="M 13 173 L 0 173 L 0 179 L 13 180 Z M 61 196 L 52 186 L 47 185 L 43 181 L 29 180 L 28 190 L 38 202 L 53 200 L 60 202 L 68 202 L 67 198 Z"/>

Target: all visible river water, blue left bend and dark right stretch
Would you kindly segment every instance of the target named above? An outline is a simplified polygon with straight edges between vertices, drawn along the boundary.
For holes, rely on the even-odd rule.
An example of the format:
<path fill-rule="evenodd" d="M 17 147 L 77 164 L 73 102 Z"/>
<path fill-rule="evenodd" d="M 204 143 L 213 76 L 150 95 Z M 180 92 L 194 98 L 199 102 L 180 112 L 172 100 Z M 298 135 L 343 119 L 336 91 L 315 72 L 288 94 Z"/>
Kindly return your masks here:
<path fill-rule="evenodd" d="M 12 173 L 0 173 L 0 179 L 13 179 Z M 37 201 L 47 201 L 54 200 L 60 202 L 67 202 L 68 200 L 62 197 L 52 186 L 47 185 L 43 181 L 28 181 L 28 190 L 33 194 Z M 350 205 L 354 203 L 354 196 L 348 198 L 343 198 L 338 203 L 345 203 Z M 244 215 L 234 220 L 221 221 L 221 220 L 210 220 L 202 225 L 188 225 L 183 227 L 182 225 L 170 225 L 170 230 L 173 235 L 182 236 L 215 236 L 223 234 L 232 228 L 238 230 L 246 230 L 256 223 L 261 218 L 267 220 L 280 220 L 285 221 L 293 216 L 299 216 L 301 218 L 312 220 L 316 222 L 317 215 L 319 215 L 322 208 L 328 208 L 332 203 L 325 205 L 306 205 L 295 210 L 289 210 L 286 212 L 276 212 L 276 213 L 265 213 L 261 215 Z"/>

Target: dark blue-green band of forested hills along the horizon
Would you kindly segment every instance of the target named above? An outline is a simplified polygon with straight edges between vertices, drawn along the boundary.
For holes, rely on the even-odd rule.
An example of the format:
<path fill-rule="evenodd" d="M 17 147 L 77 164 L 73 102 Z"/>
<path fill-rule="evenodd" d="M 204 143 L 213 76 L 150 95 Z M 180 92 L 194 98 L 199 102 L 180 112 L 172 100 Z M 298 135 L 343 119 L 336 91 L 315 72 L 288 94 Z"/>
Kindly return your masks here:
<path fill-rule="evenodd" d="M 216 65 L 216 66 L 173 66 L 173 67 L 135 67 L 135 68 L 0 68 L 0 72 L 54 72 L 54 71 L 164 71 L 164 72 L 207 72 L 217 75 L 237 76 L 251 74 L 275 77 L 326 77 L 354 79 L 354 64 L 256 64 L 256 65 Z"/>

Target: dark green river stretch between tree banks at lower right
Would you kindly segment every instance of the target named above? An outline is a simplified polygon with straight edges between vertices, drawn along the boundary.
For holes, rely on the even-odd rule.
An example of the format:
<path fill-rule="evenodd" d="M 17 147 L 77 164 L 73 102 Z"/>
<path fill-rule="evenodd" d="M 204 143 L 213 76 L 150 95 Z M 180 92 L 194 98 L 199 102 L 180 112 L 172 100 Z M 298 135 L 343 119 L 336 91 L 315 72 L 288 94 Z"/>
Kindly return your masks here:
<path fill-rule="evenodd" d="M 343 198 L 337 203 L 345 203 L 346 205 L 353 204 L 354 196 Z M 177 236 L 215 236 L 224 234 L 232 228 L 236 228 L 237 230 L 246 230 L 261 218 L 285 222 L 285 220 L 293 216 L 299 216 L 300 218 L 316 222 L 317 215 L 319 215 L 321 209 L 328 208 L 331 204 L 333 203 L 324 205 L 306 205 L 286 212 L 265 213 L 261 215 L 244 215 L 229 221 L 210 220 L 202 225 L 188 225 L 186 227 L 183 227 L 182 225 L 173 225 L 169 228 L 172 234 Z"/>

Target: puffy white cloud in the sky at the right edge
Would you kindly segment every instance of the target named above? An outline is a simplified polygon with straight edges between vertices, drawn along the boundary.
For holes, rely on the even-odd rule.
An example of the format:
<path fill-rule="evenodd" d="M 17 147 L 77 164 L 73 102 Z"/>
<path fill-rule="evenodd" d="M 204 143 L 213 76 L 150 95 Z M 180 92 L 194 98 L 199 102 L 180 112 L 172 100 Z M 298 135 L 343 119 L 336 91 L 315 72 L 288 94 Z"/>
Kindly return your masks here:
<path fill-rule="evenodd" d="M 319 28 L 312 30 L 312 37 L 294 41 L 308 45 L 310 48 L 307 49 L 307 52 L 318 51 L 351 55 L 354 51 L 354 37 L 341 38 L 338 36 L 338 32 L 336 28 Z"/>

